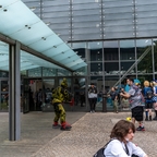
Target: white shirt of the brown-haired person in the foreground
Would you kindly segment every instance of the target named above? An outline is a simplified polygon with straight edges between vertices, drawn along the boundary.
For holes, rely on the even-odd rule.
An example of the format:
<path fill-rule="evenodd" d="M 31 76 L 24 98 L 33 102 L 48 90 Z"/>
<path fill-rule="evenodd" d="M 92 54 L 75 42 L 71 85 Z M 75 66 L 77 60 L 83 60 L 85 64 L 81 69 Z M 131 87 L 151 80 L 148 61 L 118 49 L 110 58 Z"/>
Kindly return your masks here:
<path fill-rule="evenodd" d="M 131 157 L 133 154 L 138 157 L 144 157 L 146 154 L 142 148 L 133 144 L 132 142 L 126 143 L 129 155 L 125 152 L 124 143 L 119 140 L 111 141 L 105 148 L 104 155 L 106 157 Z"/>

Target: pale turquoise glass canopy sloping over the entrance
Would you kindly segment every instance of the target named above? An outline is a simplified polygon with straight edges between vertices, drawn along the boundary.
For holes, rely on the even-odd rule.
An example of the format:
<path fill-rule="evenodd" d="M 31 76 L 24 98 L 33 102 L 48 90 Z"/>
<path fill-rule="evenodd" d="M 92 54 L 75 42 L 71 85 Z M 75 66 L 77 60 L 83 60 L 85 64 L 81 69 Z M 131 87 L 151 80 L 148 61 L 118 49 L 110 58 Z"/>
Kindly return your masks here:
<path fill-rule="evenodd" d="M 14 40 L 19 40 L 24 46 L 48 57 L 48 61 L 32 57 L 22 51 L 22 70 L 35 67 L 58 68 L 59 64 L 75 71 L 87 64 L 76 55 L 53 31 L 51 31 L 37 15 L 34 14 L 21 0 L 0 0 L 0 34 Z M 8 49 L 2 49 L 0 52 Z M 1 61 L 5 67 L 5 56 Z M 8 58 L 8 57 L 7 57 Z M 58 65 L 55 65 L 55 60 Z M 28 63 L 31 62 L 31 63 Z M 41 64 L 40 64 L 41 63 Z"/>

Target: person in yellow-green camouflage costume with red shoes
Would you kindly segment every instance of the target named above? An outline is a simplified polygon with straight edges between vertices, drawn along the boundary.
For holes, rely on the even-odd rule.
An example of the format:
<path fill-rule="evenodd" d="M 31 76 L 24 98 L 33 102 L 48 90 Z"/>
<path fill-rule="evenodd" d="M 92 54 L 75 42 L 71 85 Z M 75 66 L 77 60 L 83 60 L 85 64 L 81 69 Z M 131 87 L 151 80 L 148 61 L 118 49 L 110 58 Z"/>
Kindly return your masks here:
<path fill-rule="evenodd" d="M 70 100 L 70 94 L 67 88 L 68 82 L 67 78 L 63 78 L 61 85 L 52 90 L 52 105 L 56 113 L 52 128 L 60 128 L 61 130 L 71 130 L 72 128 L 65 122 L 65 110 L 62 106 L 63 102 L 68 102 Z M 59 119 L 61 126 L 58 123 Z"/>

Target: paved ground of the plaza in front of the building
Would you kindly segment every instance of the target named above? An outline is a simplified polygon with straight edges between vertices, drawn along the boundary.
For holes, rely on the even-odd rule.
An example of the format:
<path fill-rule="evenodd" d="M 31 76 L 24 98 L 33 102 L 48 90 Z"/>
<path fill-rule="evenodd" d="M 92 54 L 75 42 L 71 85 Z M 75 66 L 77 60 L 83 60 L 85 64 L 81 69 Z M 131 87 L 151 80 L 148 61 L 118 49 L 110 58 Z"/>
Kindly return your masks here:
<path fill-rule="evenodd" d="M 21 113 L 22 134 L 10 142 L 9 114 L 0 113 L 0 157 L 92 157 L 109 140 L 117 121 L 130 112 L 67 112 L 71 131 L 51 129 L 53 112 Z M 156 157 L 157 121 L 144 122 L 146 131 L 136 132 L 134 142 L 149 157 Z"/>

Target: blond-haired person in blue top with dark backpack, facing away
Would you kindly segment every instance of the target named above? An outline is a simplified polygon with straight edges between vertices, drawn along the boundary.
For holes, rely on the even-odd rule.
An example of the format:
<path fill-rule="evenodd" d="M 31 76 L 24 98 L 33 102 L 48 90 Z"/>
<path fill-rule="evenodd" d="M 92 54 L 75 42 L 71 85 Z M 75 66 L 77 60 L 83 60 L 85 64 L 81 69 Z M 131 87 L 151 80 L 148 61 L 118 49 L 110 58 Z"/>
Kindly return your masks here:
<path fill-rule="evenodd" d="M 149 86 L 148 81 L 144 81 L 144 88 L 142 90 L 145 98 L 145 121 L 152 121 L 152 109 L 153 109 L 153 89 Z"/>

